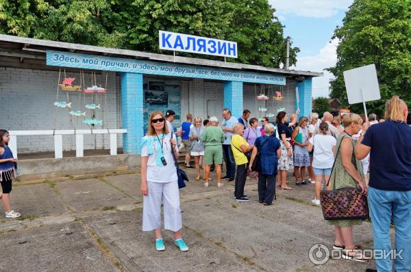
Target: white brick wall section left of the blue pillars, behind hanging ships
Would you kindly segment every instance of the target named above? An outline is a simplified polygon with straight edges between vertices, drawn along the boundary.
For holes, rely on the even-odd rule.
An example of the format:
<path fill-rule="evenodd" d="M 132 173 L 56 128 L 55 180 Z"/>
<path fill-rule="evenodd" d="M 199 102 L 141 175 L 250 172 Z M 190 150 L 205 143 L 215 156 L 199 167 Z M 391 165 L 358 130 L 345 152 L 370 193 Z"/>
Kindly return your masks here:
<path fill-rule="evenodd" d="M 84 73 L 86 87 L 91 85 L 91 75 Z M 47 70 L 32 70 L 20 68 L 0 67 L 0 127 L 7 130 L 42 130 L 42 129 L 87 129 L 79 118 L 69 115 L 69 109 L 56 108 L 58 72 Z M 61 75 L 64 78 L 62 70 Z M 67 72 L 66 77 L 75 77 L 74 83 L 79 84 L 79 73 Z M 105 85 L 105 72 L 97 74 L 97 84 Z M 103 94 L 99 94 L 98 103 L 101 110 L 96 111 L 95 119 L 103 120 L 103 128 L 121 128 L 121 99 L 120 81 L 114 72 L 108 73 L 107 103 Z M 69 94 L 74 111 L 87 111 L 90 118 L 90 110 L 84 107 L 84 96 L 79 101 L 79 93 Z M 59 101 L 67 101 L 67 93 L 59 92 Z M 86 104 L 91 103 L 91 97 L 86 96 Z M 71 124 L 71 120 L 73 124 Z M 54 150 L 52 136 L 27 136 L 17 137 L 19 153 L 47 152 Z M 119 146 L 122 145 L 122 137 L 118 137 Z M 75 150 L 75 137 L 63 137 L 64 150 Z M 85 149 L 110 148 L 108 135 L 85 135 Z"/>

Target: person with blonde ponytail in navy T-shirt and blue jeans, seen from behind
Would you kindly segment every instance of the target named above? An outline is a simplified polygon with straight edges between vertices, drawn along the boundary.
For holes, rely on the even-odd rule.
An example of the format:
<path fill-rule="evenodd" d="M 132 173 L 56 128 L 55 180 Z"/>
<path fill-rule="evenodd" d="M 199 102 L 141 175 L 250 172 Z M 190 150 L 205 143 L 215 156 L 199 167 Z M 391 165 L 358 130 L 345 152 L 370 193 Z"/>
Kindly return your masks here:
<path fill-rule="evenodd" d="M 386 121 L 365 125 L 356 146 L 357 159 L 370 153 L 368 202 L 375 249 L 391 249 L 390 221 L 395 225 L 395 248 L 402 250 L 394 268 L 411 269 L 411 127 L 406 124 L 408 108 L 398 96 L 386 104 Z M 365 135 L 364 135 L 365 133 Z M 389 255 L 389 254 L 388 254 Z M 386 254 L 375 260 L 378 272 L 392 271 Z"/>

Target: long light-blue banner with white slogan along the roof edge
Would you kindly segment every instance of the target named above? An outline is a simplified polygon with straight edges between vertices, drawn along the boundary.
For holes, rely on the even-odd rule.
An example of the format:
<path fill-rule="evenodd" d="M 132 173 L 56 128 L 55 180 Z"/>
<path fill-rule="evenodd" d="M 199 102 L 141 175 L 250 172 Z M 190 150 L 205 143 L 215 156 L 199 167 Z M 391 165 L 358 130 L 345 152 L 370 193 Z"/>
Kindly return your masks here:
<path fill-rule="evenodd" d="M 47 65 L 73 67 L 115 72 L 136 72 L 140 74 L 159 74 L 171 77 L 191 77 L 195 79 L 216 79 L 221 81 L 240 81 L 286 85 L 286 77 L 276 74 L 247 72 L 233 69 L 212 68 L 151 62 L 122 57 L 104 57 L 70 52 L 47 50 Z"/>

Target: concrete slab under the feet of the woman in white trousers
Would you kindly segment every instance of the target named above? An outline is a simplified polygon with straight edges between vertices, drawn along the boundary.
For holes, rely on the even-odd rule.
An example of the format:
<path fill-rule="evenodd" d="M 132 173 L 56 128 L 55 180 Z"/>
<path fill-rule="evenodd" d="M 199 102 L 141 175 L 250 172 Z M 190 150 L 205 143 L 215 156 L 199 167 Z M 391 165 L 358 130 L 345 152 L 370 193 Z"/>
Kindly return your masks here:
<path fill-rule="evenodd" d="M 142 232 L 141 218 L 141 212 L 119 212 L 104 217 L 89 217 L 85 221 L 129 271 L 259 270 L 203 239 L 200 234 L 186 229 L 183 236 L 190 247 L 189 251 L 179 251 L 169 231 L 163 231 L 166 250 L 155 251 L 153 233 Z"/>

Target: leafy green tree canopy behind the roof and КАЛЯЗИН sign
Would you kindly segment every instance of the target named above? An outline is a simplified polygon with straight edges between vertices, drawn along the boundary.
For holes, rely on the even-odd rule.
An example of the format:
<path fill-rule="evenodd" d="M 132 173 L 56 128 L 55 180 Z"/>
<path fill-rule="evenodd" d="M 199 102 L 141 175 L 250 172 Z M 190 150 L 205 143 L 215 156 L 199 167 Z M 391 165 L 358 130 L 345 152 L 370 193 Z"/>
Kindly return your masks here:
<path fill-rule="evenodd" d="M 0 0 L 0 33 L 170 54 L 158 48 L 166 30 L 232 40 L 238 59 L 227 61 L 279 67 L 286 39 L 274 13 L 267 0 Z"/>

